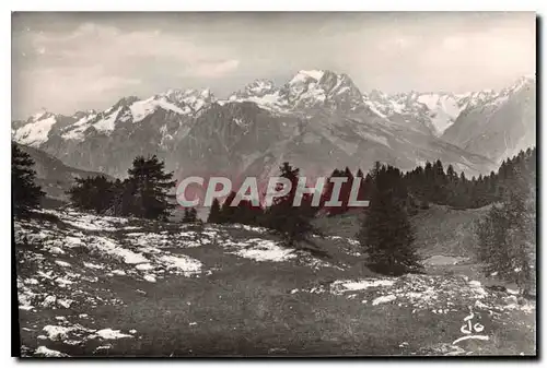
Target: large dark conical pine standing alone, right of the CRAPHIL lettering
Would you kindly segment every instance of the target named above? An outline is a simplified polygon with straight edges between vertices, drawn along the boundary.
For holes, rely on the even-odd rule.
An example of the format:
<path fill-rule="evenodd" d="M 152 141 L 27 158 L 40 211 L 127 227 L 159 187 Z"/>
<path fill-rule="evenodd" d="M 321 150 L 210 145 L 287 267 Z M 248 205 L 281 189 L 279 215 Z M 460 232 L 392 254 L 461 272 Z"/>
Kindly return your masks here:
<path fill-rule="evenodd" d="M 372 193 L 359 240 L 368 266 L 377 273 L 401 275 L 421 269 L 414 248 L 414 229 L 405 209 L 407 191 L 400 171 L 376 163 Z"/>

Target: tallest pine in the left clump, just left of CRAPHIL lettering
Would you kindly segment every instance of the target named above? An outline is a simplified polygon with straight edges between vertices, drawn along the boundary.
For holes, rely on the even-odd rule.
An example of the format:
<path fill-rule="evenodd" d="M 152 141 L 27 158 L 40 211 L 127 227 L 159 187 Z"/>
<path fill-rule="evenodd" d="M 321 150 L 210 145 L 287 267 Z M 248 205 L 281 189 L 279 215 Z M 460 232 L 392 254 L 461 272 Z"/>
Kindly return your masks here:
<path fill-rule="evenodd" d="M 127 185 L 133 193 L 131 214 L 144 218 L 166 219 L 174 204 L 167 200 L 167 192 L 175 187 L 173 173 L 164 173 L 165 164 L 155 155 L 139 156 L 128 170 Z"/>

